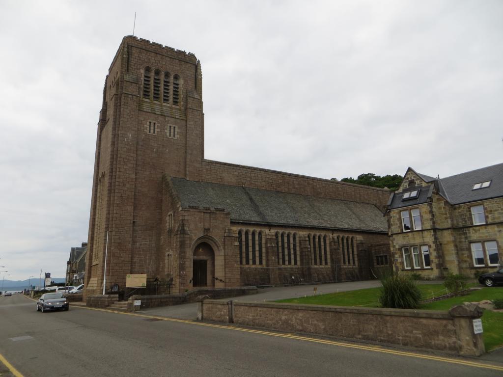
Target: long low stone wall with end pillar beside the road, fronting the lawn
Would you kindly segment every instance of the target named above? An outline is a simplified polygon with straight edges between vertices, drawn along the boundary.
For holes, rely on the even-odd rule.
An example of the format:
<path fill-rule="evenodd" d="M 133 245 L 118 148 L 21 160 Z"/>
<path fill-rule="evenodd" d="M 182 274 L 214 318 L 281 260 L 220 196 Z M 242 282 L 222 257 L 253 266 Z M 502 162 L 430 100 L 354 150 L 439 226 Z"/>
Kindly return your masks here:
<path fill-rule="evenodd" d="M 476 305 L 447 311 L 253 303 L 204 300 L 198 320 L 233 323 L 287 332 L 398 344 L 479 356 L 485 352 L 482 334 L 474 334 Z"/>

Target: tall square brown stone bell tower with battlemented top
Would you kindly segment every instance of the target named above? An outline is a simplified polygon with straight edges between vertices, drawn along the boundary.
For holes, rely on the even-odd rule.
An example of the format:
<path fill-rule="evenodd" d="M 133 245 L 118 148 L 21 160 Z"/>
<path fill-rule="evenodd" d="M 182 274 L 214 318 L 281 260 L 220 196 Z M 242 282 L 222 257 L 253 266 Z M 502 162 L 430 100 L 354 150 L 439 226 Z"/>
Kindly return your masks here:
<path fill-rule="evenodd" d="M 163 175 L 198 179 L 204 157 L 201 64 L 194 54 L 124 37 L 103 90 L 86 293 L 160 273 Z M 108 234 L 108 246 L 107 246 Z M 105 254 L 107 263 L 105 271 Z"/>

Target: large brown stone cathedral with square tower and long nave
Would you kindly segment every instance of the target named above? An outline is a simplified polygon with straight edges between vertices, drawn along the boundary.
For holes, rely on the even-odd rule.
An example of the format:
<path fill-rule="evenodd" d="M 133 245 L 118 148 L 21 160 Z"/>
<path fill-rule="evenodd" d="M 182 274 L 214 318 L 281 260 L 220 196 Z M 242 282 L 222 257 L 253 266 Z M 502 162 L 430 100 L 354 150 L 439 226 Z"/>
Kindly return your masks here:
<path fill-rule="evenodd" d="M 86 295 L 368 279 L 389 268 L 387 190 L 204 157 L 201 64 L 133 36 L 98 123 Z M 108 233 L 108 242 L 107 242 Z M 117 287 L 116 286 L 116 287 Z"/>

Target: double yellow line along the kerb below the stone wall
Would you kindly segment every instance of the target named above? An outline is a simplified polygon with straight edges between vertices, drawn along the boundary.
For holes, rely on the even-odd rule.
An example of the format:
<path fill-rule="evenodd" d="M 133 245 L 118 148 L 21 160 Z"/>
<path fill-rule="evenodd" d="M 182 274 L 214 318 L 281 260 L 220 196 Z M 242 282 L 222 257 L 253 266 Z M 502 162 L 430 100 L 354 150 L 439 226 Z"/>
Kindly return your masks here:
<path fill-rule="evenodd" d="M 245 329 L 242 327 L 236 327 L 236 325 L 233 325 L 233 326 L 217 325 L 217 324 L 204 323 L 204 322 L 199 322 L 199 321 L 194 321 L 194 320 L 149 316 L 146 314 L 136 314 L 136 313 L 128 313 L 128 312 L 117 312 L 114 310 L 100 309 L 100 308 L 88 308 L 85 306 L 73 306 L 73 308 L 96 310 L 96 311 L 100 311 L 100 312 L 108 312 L 108 313 L 116 313 L 116 314 L 124 314 L 124 315 L 128 315 L 128 316 L 133 316 L 133 317 L 156 318 L 156 319 L 160 319 L 162 321 L 180 322 L 180 323 L 187 323 L 187 324 L 198 325 L 198 326 L 215 327 L 215 328 L 219 328 L 219 329 L 249 332 L 249 333 L 254 333 L 254 334 L 276 336 L 276 337 L 280 337 L 280 338 L 289 338 L 289 339 L 302 340 L 302 341 L 308 341 L 308 342 L 313 342 L 313 343 L 335 345 L 335 346 L 346 347 L 346 348 L 355 348 L 355 349 L 362 349 L 362 350 L 366 350 L 366 351 L 388 353 L 388 354 L 397 355 L 397 356 L 416 357 L 416 358 L 422 358 L 422 359 L 427 359 L 427 360 L 442 361 L 442 362 L 447 362 L 447 363 L 452 363 L 452 364 L 473 366 L 476 368 L 485 368 L 485 369 L 493 369 L 493 370 L 503 371 L 503 366 L 499 366 L 499 365 L 485 364 L 482 362 L 461 360 L 461 359 L 455 359 L 455 358 L 449 358 L 449 357 L 426 355 L 426 354 L 415 353 L 415 352 L 398 351 L 398 350 L 394 350 L 394 349 L 386 349 L 386 348 L 382 348 L 382 346 L 380 346 L 380 345 L 352 344 L 352 343 L 333 341 L 333 340 L 328 340 L 328 339 L 310 338 L 310 337 L 301 336 L 301 335 L 283 334 L 283 333 L 278 333 L 278 332 L 255 330 L 255 329 Z"/>

